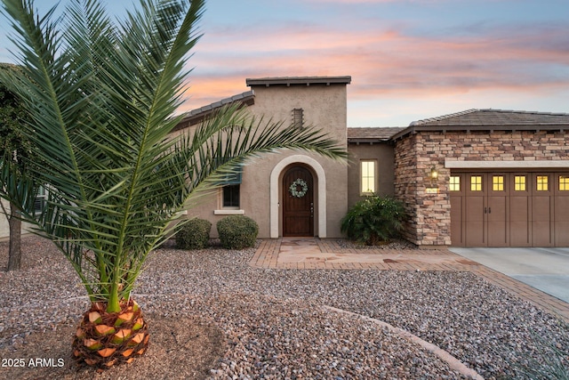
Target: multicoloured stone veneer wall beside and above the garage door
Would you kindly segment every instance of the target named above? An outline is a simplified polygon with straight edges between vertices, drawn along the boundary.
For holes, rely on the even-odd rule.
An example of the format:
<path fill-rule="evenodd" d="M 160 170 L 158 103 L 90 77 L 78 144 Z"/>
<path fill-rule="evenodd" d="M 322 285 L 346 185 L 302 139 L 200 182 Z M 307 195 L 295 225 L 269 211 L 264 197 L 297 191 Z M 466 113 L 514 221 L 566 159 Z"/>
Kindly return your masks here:
<path fill-rule="evenodd" d="M 553 131 L 420 132 L 396 141 L 395 194 L 410 219 L 405 239 L 419 246 L 451 245 L 450 169 L 457 161 L 569 160 L 567 133 Z M 438 194 L 427 194 L 429 171 L 438 172 Z M 569 166 L 569 163 L 568 163 Z"/>

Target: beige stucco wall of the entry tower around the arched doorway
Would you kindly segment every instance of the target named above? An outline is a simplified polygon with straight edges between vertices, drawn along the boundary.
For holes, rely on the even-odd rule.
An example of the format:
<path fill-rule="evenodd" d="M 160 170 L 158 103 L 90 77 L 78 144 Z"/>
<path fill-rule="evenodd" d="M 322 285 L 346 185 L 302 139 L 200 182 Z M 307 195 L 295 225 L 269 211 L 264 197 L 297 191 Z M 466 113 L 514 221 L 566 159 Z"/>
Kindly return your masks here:
<path fill-rule="evenodd" d="M 248 109 L 253 115 L 264 116 L 265 122 L 269 118 L 273 121 L 284 121 L 284 125 L 292 122 L 292 111 L 295 108 L 304 110 L 305 125 L 317 125 L 325 130 L 330 137 L 339 141 L 340 146 L 347 149 L 347 109 L 346 85 L 270 85 L 253 86 L 255 102 Z M 270 218 L 270 177 L 272 170 L 285 158 L 295 155 L 306 157 L 303 161 L 315 160 L 325 172 L 325 231 L 318 230 L 322 223 L 317 219 L 322 210 L 318 205 L 318 186 L 315 183 L 315 234 L 318 236 L 340 237 L 340 220 L 347 211 L 347 175 L 348 166 L 335 162 L 329 158 L 321 158 L 304 151 L 282 151 L 276 154 L 263 155 L 255 158 L 243 171 L 243 182 L 240 189 L 240 208 L 244 214 L 252 217 L 259 223 L 260 238 L 269 238 L 271 230 Z M 313 173 L 314 174 L 314 173 Z M 282 177 L 282 175 L 281 175 Z M 316 182 L 316 177 L 315 177 Z M 280 184 L 280 182 L 279 182 Z M 214 215 L 214 210 L 220 209 L 220 191 L 208 198 L 200 198 L 199 204 L 192 208 L 188 215 L 199 216 L 210 220 L 213 224 L 225 215 Z M 282 197 L 280 185 L 277 197 Z M 281 222 L 280 212 L 278 222 Z M 282 226 L 278 226 L 281 236 Z M 212 236 L 217 236 L 215 225 L 212 227 Z"/>

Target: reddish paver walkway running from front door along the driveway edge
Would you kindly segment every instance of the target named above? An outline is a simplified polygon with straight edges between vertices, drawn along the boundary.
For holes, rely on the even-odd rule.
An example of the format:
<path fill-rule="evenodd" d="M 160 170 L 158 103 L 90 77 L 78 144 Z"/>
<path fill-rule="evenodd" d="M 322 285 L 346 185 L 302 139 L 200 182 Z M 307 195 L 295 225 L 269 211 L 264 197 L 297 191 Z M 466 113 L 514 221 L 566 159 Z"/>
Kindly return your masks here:
<path fill-rule="evenodd" d="M 379 271 L 471 271 L 569 322 L 569 303 L 447 249 L 346 249 L 337 239 L 263 239 L 252 267 Z"/>

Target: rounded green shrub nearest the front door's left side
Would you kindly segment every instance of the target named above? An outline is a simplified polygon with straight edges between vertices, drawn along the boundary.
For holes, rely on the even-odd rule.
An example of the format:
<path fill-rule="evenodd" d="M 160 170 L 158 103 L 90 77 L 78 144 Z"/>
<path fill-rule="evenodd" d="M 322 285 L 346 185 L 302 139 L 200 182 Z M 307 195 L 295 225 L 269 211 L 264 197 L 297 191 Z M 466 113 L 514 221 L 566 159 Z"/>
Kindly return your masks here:
<path fill-rule="evenodd" d="M 259 225 L 248 216 L 231 215 L 217 222 L 217 231 L 221 247 L 243 249 L 255 246 Z"/>

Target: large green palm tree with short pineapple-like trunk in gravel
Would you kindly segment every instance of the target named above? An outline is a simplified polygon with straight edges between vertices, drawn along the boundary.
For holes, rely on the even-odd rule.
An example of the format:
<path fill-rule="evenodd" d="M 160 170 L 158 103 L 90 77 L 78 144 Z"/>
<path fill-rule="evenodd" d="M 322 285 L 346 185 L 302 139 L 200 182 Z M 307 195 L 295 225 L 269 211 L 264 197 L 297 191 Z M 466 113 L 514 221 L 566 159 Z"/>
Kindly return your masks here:
<path fill-rule="evenodd" d="M 76 359 L 130 362 L 148 344 L 132 288 L 190 198 L 261 153 L 345 153 L 315 129 L 257 121 L 236 106 L 194 133 L 172 133 L 203 0 L 140 0 L 117 25 L 97 0 L 73 0 L 62 20 L 54 9 L 37 17 L 32 0 L 3 2 L 24 72 L 3 80 L 26 102 L 33 180 L 49 190 L 40 214 L 23 195 L 10 200 L 60 248 L 90 298 Z"/>

